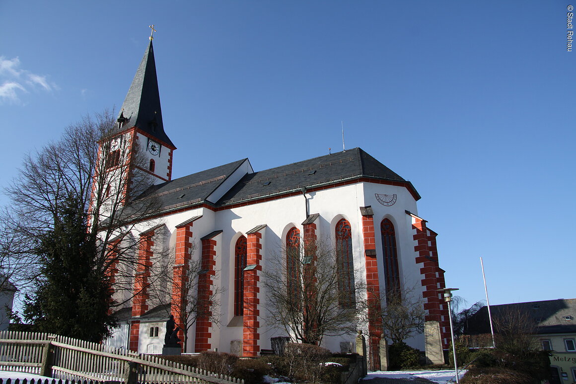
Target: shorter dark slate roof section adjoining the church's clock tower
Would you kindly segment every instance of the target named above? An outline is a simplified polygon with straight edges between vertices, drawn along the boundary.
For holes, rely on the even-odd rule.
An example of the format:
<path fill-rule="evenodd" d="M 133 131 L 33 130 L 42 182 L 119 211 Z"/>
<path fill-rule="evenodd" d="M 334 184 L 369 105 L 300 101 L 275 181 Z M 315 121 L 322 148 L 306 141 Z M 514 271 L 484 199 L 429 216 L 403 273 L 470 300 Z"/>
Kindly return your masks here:
<path fill-rule="evenodd" d="M 158 196 L 162 211 L 176 210 L 198 204 L 206 200 L 246 160 L 237 160 L 233 163 L 155 185 L 145 195 Z"/>

